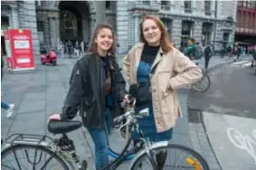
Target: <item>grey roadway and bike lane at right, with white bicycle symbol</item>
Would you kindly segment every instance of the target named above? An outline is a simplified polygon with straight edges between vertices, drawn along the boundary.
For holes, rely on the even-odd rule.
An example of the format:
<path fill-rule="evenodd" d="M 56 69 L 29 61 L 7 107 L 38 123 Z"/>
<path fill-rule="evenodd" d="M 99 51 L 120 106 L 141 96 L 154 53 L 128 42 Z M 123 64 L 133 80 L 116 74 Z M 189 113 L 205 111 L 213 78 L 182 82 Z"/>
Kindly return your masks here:
<path fill-rule="evenodd" d="M 251 57 L 242 61 L 250 63 Z M 256 77 L 250 64 L 239 67 L 242 61 L 216 66 L 209 72 L 209 90 L 188 94 L 190 120 L 201 122 L 223 170 L 255 169 Z"/>

